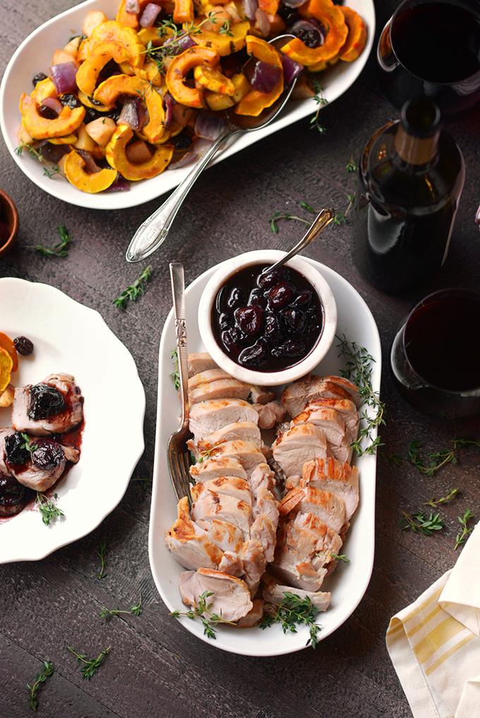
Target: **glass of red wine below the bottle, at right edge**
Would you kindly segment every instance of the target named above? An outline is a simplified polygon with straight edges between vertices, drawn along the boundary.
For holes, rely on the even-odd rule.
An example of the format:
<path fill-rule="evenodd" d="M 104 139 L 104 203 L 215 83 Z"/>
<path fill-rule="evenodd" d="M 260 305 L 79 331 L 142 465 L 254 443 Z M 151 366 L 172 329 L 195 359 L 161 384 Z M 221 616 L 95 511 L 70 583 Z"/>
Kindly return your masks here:
<path fill-rule="evenodd" d="M 436 419 L 480 417 L 480 292 L 441 289 L 410 312 L 393 341 L 392 379 Z"/>

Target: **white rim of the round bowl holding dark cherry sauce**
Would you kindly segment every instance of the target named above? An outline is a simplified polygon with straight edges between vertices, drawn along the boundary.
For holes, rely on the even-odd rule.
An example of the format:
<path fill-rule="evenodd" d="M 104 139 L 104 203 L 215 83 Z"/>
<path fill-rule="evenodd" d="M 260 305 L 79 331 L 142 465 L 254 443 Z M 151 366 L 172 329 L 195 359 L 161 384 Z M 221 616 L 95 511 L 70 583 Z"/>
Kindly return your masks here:
<path fill-rule="evenodd" d="M 324 327 L 319 342 L 311 353 L 301 362 L 298 362 L 298 364 L 288 369 L 263 372 L 238 365 L 227 357 L 217 344 L 215 335 L 212 332 L 211 317 L 212 307 L 215 304 L 215 298 L 222 284 L 240 269 L 246 269 L 255 264 L 275 264 L 275 262 L 283 256 L 285 256 L 285 252 L 277 249 L 258 249 L 240 254 L 228 261 L 227 274 L 225 274 L 225 268 L 220 267 L 220 269 L 217 269 L 215 274 L 207 281 L 207 286 L 205 286 L 202 292 L 198 307 L 200 336 L 210 356 L 220 368 L 240 381 L 259 384 L 260 386 L 278 386 L 279 384 L 295 381 L 301 376 L 308 374 L 309 371 L 321 362 L 331 347 L 331 342 L 334 340 L 335 331 L 337 330 L 337 304 L 335 304 L 334 295 L 324 276 L 322 276 L 312 264 L 298 255 L 291 258 L 291 260 L 286 263 L 286 266 L 290 266 L 292 269 L 296 269 L 296 271 L 300 272 L 300 274 L 303 274 L 303 276 L 306 276 L 306 279 L 308 279 L 312 286 L 314 286 L 314 289 L 316 289 L 316 293 L 319 295 L 321 304 L 324 307 Z"/>

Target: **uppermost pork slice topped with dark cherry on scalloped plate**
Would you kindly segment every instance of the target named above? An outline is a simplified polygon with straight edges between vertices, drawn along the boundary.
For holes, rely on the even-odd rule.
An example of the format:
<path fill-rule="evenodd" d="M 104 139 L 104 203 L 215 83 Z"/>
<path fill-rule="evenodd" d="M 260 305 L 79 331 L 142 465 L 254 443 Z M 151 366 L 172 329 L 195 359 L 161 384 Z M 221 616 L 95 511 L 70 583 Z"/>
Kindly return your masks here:
<path fill-rule="evenodd" d="M 18 386 L 11 425 L 39 437 L 65 434 L 83 419 L 83 396 L 71 374 L 49 374 L 39 384 Z"/>

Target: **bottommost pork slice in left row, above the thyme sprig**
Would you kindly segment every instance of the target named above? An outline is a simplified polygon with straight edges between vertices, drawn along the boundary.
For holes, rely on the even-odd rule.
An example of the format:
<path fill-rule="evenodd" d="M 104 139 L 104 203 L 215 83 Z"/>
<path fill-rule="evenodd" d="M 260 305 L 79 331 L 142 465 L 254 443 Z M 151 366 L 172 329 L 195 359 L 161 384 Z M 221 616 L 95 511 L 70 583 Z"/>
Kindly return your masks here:
<path fill-rule="evenodd" d="M 250 590 L 245 581 L 222 571 L 198 569 L 180 574 L 180 595 L 184 605 L 197 608 L 199 597 L 205 591 L 211 593 L 210 611 L 225 621 L 239 620 L 253 608 Z"/>

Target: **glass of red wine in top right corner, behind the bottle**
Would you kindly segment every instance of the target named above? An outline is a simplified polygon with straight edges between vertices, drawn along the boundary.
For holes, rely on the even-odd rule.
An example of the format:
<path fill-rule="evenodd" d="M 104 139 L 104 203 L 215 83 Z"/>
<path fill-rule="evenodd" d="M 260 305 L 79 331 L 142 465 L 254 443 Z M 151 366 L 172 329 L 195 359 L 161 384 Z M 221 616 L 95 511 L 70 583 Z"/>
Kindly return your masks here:
<path fill-rule="evenodd" d="M 429 98 L 444 114 L 480 99 L 480 2 L 403 0 L 380 35 L 377 76 L 397 109 Z"/>

